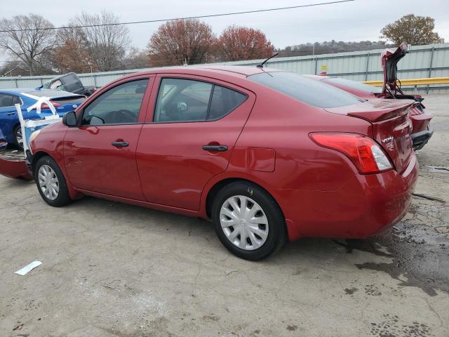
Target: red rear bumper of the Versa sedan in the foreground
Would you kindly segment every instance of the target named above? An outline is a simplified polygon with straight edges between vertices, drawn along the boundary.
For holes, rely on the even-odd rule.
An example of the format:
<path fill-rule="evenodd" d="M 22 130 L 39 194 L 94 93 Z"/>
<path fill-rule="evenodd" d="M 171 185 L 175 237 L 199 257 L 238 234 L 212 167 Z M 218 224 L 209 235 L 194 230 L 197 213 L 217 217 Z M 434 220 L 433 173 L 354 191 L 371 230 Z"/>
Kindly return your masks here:
<path fill-rule="evenodd" d="M 413 153 L 403 173 L 356 174 L 335 191 L 277 190 L 289 239 L 364 238 L 387 230 L 408 212 L 418 171 Z"/>

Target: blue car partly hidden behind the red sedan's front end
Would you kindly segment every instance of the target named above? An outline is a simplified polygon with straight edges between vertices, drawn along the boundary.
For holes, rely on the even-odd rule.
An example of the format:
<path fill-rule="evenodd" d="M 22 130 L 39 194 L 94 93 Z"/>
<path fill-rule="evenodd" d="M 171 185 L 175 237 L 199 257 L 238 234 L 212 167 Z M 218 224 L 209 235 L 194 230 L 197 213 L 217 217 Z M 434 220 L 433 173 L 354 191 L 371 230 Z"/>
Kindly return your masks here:
<path fill-rule="evenodd" d="M 67 93 L 65 91 L 36 89 L 36 88 L 17 88 L 0 90 L 0 130 L 8 143 L 17 145 L 20 149 L 23 147 L 22 130 L 20 121 L 15 110 L 15 104 L 19 103 L 24 119 L 43 119 L 51 115 L 52 112 L 48 106 L 41 105 L 41 114 L 36 110 L 27 112 L 41 97 L 48 97 L 53 103 L 56 112 L 62 116 L 67 112 L 73 111 L 86 100 L 86 96 Z"/>

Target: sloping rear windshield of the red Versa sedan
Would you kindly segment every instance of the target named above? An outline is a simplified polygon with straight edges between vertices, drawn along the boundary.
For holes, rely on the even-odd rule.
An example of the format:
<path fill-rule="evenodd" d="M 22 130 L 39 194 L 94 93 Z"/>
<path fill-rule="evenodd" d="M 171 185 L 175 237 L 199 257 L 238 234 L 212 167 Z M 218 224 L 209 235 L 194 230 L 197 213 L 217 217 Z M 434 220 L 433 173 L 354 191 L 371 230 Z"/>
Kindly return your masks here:
<path fill-rule="evenodd" d="M 339 88 L 293 72 L 264 72 L 248 79 L 314 107 L 344 107 L 364 102 Z"/>

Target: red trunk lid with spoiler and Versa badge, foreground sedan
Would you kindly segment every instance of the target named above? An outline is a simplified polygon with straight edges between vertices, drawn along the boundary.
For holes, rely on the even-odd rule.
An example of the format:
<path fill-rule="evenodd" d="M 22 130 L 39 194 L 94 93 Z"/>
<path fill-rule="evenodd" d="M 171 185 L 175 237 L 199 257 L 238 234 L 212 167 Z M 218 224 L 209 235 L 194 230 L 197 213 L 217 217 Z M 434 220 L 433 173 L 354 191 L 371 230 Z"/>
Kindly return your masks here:
<path fill-rule="evenodd" d="M 370 100 L 326 111 L 369 121 L 373 125 L 373 139 L 387 153 L 396 171 L 401 173 L 406 169 L 413 151 L 408 110 L 415 104 L 413 100 Z"/>

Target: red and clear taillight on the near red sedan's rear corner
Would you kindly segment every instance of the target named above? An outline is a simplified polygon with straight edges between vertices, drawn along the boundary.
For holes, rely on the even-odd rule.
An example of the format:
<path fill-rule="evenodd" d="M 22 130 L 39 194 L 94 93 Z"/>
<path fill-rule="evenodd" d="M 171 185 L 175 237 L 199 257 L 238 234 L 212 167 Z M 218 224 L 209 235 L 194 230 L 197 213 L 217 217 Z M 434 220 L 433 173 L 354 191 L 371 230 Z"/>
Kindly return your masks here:
<path fill-rule="evenodd" d="M 392 169 L 382 148 L 366 136 L 356 133 L 311 133 L 310 137 L 320 146 L 342 152 L 360 173 L 379 173 Z"/>

